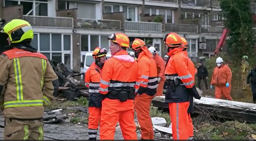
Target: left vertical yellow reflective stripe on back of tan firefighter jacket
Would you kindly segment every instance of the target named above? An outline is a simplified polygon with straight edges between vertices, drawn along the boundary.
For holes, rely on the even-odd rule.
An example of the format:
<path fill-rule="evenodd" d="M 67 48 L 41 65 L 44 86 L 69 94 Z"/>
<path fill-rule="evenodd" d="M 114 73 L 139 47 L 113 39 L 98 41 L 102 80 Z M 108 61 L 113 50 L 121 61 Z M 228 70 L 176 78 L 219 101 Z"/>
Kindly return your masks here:
<path fill-rule="evenodd" d="M 20 60 L 19 60 L 19 58 L 14 58 L 13 60 L 14 60 L 14 69 L 15 69 L 17 99 L 18 99 L 18 101 L 22 101 L 23 100 L 23 87 L 22 87 L 22 80 L 21 80 Z"/>

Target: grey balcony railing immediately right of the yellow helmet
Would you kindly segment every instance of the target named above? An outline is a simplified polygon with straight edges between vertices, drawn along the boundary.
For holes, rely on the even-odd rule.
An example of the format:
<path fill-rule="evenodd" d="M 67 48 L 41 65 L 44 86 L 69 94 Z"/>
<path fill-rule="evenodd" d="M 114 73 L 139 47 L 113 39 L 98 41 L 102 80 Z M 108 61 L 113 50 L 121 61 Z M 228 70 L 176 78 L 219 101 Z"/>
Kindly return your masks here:
<path fill-rule="evenodd" d="M 48 17 L 48 16 L 23 16 L 23 19 L 28 21 L 35 27 L 62 27 L 73 28 L 73 18 L 67 17 Z"/>

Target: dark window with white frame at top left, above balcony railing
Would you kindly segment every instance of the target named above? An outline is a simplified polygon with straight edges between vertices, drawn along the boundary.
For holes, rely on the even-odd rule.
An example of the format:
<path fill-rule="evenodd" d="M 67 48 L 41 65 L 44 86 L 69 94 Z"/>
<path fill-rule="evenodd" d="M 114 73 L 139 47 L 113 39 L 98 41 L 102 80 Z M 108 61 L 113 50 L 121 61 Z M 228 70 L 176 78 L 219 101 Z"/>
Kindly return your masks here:
<path fill-rule="evenodd" d="M 33 15 L 33 16 L 48 16 L 48 2 L 47 0 L 5 0 L 5 6 L 10 5 L 23 5 L 23 14 L 24 15 Z"/>

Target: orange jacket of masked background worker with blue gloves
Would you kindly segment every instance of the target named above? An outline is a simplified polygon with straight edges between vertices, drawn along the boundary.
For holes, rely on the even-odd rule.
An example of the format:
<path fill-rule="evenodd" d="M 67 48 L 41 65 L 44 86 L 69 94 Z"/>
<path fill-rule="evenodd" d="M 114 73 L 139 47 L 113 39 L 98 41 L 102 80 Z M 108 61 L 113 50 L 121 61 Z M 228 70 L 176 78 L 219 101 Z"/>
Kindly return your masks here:
<path fill-rule="evenodd" d="M 211 78 L 211 85 L 225 86 L 226 83 L 231 85 L 231 79 L 231 69 L 224 64 L 221 67 L 215 67 Z"/>

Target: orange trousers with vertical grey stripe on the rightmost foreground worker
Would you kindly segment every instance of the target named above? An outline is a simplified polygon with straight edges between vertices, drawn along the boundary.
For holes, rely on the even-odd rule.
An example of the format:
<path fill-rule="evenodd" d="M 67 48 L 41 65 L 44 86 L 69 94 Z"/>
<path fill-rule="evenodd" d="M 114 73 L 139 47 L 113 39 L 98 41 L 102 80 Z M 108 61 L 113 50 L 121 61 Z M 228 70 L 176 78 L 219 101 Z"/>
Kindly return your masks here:
<path fill-rule="evenodd" d="M 189 119 L 187 109 L 189 101 L 181 103 L 169 103 L 170 117 L 173 129 L 173 140 L 189 139 Z"/>

